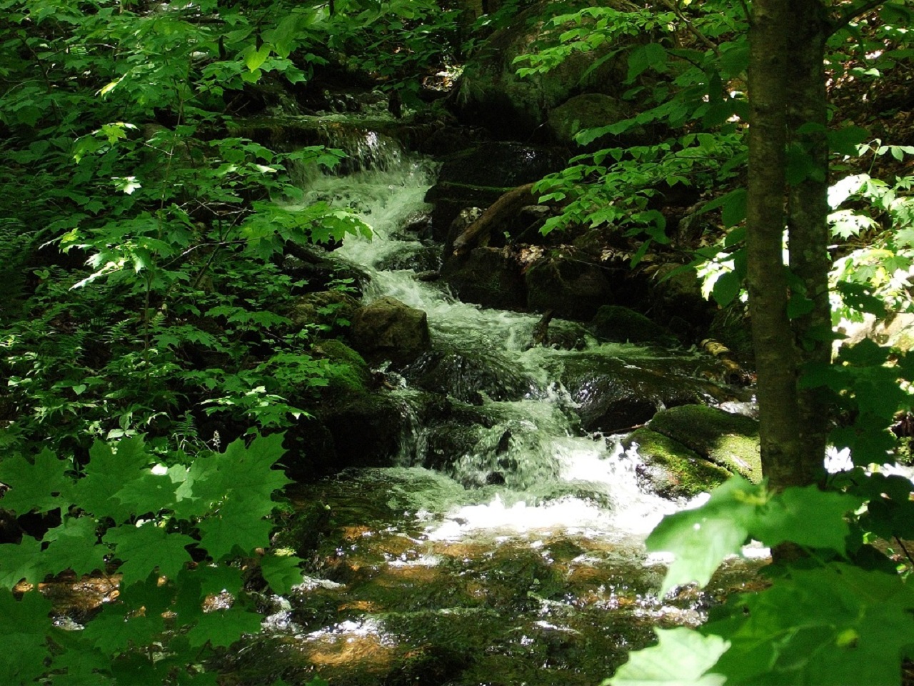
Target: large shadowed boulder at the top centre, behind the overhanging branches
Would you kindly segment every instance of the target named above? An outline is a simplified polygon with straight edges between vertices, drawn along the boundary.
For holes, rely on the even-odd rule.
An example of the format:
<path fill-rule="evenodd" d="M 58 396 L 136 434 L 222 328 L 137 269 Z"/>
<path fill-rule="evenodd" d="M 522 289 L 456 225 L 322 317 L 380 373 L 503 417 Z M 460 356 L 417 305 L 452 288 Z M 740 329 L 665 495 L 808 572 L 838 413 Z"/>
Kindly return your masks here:
<path fill-rule="evenodd" d="M 608 4 L 623 9 L 621 2 Z M 496 135 L 518 139 L 534 134 L 545 123 L 547 112 L 572 96 L 593 91 L 621 94 L 627 59 L 624 53 L 610 57 L 618 44 L 572 52 L 545 73 L 517 75 L 524 65 L 515 63 L 516 58 L 536 52 L 540 45 L 558 42 L 558 36 L 566 30 L 553 26 L 552 16 L 592 5 L 597 3 L 541 0 L 517 15 L 509 27 L 495 31 L 463 68 L 451 99 L 458 118 L 463 123 L 486 126 Z M 598 59 L 603 59 L 602 63 L 591 69 Z"/>

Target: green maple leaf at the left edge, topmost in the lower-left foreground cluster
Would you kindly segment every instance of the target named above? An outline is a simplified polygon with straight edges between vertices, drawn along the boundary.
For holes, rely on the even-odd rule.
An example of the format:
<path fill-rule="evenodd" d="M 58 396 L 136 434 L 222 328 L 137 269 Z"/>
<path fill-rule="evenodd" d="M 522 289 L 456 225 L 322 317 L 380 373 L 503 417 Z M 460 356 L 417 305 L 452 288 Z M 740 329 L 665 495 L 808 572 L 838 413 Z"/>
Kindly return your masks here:
<path fill-rule="evenodd" d="M 0 502 L 17 514 L 69 506 L 60 498 L 72 484 L 64 474 L 69 466 L 69 461 L 58 459 L 47 448 L 35 456 L 34 462 L 23 456 L 7 457 L 0 462 L 0 482 L 10 489 Z"/>

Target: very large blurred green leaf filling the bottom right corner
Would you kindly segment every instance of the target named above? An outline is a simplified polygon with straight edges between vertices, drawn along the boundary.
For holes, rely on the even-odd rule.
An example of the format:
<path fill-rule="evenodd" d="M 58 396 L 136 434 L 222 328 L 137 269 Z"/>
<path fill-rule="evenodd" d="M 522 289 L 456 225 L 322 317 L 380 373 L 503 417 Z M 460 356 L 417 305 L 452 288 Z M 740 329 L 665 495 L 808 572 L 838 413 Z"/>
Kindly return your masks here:
<path fill-rule="evenodd" d="M 897 574 L 844 563 L 793 569 L 740 601 L 702 628 L 731 643 L 716 668 L 728 683 L 898 683 L 914 593 Z"/>

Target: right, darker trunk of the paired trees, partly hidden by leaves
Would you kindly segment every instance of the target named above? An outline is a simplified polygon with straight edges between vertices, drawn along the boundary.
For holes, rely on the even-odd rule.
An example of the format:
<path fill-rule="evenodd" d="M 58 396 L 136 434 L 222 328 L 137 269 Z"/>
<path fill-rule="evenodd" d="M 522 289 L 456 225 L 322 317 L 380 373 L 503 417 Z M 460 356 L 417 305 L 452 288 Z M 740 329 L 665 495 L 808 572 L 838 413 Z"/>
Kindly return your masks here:
<path fill-rule="evenodd" d="M 787 38 L 787 126 L 790 143 L 808 164 L 807 175 L 788 188 L 787 228 L 790 264 L 802 281 L 812 310 L 793 320 L 801 362 L 825 362 L 831 356 L 828 301 L 828 142 L 824 53 L 828 21 L 821 0 L 792 0 L 792 30 Z M 801 370 L 802 372 L 802 370 Z M 798 394 L 801 453 L 780 486 L 805 486 L 822 472 L 828 434 L 821 391 Z"/>

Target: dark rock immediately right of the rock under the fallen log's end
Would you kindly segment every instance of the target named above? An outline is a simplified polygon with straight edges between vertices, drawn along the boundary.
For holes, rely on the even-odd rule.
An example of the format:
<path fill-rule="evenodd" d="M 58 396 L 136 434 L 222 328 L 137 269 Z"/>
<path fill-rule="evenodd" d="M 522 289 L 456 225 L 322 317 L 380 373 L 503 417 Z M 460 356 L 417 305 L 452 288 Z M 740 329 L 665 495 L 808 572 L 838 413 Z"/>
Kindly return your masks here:
<path fill-rule="evenodd" d="M 525 283 L 531 310 L 552 310 L 565 319 L 590 319 L 612 296 L 600 267 L 569 252 L 534 263 L 526 270 Z"/>

